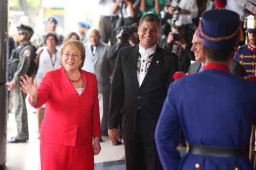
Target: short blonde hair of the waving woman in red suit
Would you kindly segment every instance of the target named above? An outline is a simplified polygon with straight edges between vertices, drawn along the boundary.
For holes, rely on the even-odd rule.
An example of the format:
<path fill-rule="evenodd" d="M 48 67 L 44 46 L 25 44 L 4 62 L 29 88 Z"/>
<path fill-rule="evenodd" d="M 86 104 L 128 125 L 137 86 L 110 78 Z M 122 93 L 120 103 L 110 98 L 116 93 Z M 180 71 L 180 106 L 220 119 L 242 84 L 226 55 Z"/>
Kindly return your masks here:
<path fill-rule="evenodd" d="M 63 43 L 63 45 L 61 45 L 61 50 L 60 50 L 61 57 L 67 46 L 76 46 L 76 48 L 78 48 L 82 57 L 82 63 L 80 65 L 80 68 L 82 68 L 83 64 L 85 63 L 85 46 L 83 45 L 83 43 L 80 42 L 79 40 L 68 40 L 67 42 Z"/>

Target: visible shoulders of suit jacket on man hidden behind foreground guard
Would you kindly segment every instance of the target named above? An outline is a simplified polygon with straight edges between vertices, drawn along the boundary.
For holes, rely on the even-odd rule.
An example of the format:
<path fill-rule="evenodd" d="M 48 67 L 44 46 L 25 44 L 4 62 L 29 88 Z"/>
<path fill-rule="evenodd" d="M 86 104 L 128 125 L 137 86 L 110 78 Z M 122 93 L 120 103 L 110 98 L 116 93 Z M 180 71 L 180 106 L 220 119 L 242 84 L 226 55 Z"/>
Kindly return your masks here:
<path fill-rule="evenodd" d="M 188 68 L 188 73 L 197 73 L 199 72 L 200 67 L 201 62 L 196 61 L 190 65 L 190 67 Z M 235 60 L 231 61 L 230 63 L 230 72 L 236 76 L 247 76 L 246 69 L 242 67 L 242 65 L 238 61 Z"/>

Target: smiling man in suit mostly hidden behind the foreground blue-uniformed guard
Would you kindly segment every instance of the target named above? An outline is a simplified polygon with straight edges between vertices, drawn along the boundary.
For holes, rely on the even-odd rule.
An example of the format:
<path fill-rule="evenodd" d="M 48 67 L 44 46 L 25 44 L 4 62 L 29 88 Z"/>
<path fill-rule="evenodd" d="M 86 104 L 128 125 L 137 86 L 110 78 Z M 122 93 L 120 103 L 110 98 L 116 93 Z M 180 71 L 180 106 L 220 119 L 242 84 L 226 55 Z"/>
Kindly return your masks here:
<path fill-rule="evenodd" d="M 193 35 L 193 46 L 191 48 L 191 51 L 195 53 L 196 62 L 193 62 L 193 64 L 190 65 L 188 68 L 188 73 L 201 72 L 203 70 L 203 65 L 206 64 L 206 53 L 203 50 L 203 43 L 197 35 L 198 31 L 196 31 Z M 242 65 L 235 60 L 230 63 L 230 72 L 237 76 L 247 76 L 247 72 L 244 67 L 242 67 Z"/>

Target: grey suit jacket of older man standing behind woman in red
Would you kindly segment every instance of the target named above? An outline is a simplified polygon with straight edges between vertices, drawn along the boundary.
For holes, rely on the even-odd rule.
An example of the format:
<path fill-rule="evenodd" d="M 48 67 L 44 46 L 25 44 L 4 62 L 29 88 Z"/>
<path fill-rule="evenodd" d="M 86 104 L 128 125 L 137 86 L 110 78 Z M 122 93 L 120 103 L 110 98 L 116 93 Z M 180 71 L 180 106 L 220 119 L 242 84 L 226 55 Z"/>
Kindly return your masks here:
<path fill-rule="evenodd" d="M 109 92 L 111 89 L 110 75 L 113 70 L 113 64 L 111 64 L 111 61 L 107 59 L 107 54 L 109 53 L 110 48 L 111 46 L 106 43 L 99 42 L 94 60 L 93 53 L 91 51 L 91 44 L 85 44 L 85 63 L 82 69 L 96 75 L 98 91 L 102 94 Z"/>

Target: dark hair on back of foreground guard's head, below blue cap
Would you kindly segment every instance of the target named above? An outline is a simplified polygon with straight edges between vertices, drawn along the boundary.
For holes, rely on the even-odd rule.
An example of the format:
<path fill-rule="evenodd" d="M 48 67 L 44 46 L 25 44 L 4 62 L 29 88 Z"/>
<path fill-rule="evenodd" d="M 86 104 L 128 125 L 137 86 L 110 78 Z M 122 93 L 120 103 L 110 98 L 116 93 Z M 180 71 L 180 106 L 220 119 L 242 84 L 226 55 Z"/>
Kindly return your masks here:
<path fill-rule="evenodd" d="M 213 49 L 204 46 L 206 56 L 214 62 L 225 62 L 230 59 L 231 54 L 234 52 L 235 48 L 228 49 Z"/>

